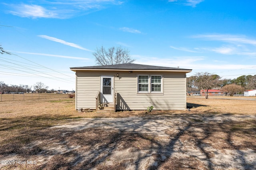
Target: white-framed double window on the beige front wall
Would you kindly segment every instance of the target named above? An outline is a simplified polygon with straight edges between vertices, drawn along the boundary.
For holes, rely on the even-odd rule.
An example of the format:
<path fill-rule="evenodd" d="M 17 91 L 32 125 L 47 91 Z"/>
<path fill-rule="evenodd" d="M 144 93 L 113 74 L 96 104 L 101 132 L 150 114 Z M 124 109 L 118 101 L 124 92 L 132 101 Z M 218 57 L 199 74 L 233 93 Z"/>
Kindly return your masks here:
<path fill-rule="evenodd" d="M 161 75 L 138 75 L 138 92 L 161 93 Z"/>

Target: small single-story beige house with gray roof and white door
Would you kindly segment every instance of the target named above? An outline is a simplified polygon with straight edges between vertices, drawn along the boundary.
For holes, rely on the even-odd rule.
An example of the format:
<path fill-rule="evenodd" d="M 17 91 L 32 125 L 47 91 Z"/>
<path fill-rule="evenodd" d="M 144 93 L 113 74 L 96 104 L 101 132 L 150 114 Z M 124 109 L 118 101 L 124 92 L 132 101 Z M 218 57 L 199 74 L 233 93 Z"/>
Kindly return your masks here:
<path fill-rule="evenodd" d="M 190 69 L 129 63 L 70 70 L 76 72 L 76 109 L 186 109 Z"/>

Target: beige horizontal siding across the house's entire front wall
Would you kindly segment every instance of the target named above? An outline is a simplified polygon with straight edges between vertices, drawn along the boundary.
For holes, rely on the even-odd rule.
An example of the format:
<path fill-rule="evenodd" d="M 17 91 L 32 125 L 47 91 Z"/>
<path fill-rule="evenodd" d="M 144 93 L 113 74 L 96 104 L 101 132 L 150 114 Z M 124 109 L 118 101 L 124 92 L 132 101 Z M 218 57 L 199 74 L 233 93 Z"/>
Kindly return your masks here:
<path fill-rule="evenodd" d="M 119 77 L 116 74 L 119 74 Z M 137 75 L 162 75 L 163 93 L 137 92 Z M 186 108 L 186 76 L 180 72 L 91 72 L 79 71 L 76 84 L 76 108 L 95 109 L 95 96 L 100 90 L 100 75 L 114 76 L 114 90 L 118 93 L 117 110 L 145 110 L 148 106 L 154 109 Z"/>

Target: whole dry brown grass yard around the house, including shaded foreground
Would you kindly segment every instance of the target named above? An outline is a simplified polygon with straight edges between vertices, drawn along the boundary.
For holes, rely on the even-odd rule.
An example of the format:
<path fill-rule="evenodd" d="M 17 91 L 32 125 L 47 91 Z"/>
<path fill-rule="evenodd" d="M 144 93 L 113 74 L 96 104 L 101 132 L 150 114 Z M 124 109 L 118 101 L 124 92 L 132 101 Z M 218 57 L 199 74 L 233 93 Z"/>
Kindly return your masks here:
<path fill-rule="evenodd" d="M 0 102 L 0 168 L 255 169 L 256 98 L 240 98 L 188 96 L 191 111 L 150 113 L 78 113 L 70 98 Z"/>

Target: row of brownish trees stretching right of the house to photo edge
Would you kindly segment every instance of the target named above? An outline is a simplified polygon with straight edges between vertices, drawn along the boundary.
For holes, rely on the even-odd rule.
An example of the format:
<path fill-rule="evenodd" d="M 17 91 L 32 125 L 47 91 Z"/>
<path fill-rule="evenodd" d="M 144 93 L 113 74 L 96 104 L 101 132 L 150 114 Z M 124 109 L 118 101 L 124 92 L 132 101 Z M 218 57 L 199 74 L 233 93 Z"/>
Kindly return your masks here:
<path fill-rule="evenodd" d="M 217 89 L 233 96 L 243 93 L 244 90 L 256 89 L 256 75 L 240 76 L 234 79 L 221 79 L 217 74 L 209 72 L 197 72 L 187 78 L 187 92 L 204 90 L 208 99 L 208 90 Z"/>

